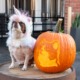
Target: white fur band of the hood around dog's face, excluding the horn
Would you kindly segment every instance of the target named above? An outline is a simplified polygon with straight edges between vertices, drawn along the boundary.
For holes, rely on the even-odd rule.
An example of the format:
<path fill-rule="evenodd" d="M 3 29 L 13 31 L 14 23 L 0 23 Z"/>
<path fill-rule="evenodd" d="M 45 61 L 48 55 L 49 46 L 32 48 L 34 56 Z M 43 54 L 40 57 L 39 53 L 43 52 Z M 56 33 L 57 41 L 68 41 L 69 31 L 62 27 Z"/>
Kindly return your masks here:
<path fill-rule="evenodd" d="M 9 30 L 9 34 L 11 34 L 11 24 L 13 21 L 15 21 L 16 18 L 19 18 L 20 21 L 22 21 L 23 23 L 25 23 L 26 25 L 26 30 L 27 30 L 27 35 L 31 35 L 32 34 L 32 19 L 30 17 L 26 17 L 25 15 L 21 14 L 21 15 L 12 15 L 10 17 L 10 22 L 8 23 L 8 30 Z M 28 21 L 30 19 L 30 22 Z"/>

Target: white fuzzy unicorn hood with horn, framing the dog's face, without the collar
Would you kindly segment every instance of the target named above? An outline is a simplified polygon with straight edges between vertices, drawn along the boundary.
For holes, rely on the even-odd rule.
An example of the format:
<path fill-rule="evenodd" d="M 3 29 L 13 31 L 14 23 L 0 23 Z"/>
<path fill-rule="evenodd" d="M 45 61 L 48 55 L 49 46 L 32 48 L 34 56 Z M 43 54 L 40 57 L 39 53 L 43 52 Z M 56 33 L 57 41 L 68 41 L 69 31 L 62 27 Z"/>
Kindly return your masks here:
<path fill-rule="evenodd" d="M 22 21 L 26 26 L 26 33 L 28 35 L 32 34 L 33 26 L 32 26 L 32 18 L 28 16 L 28 13 L 20 12 L 14 5 L 14 14 L 9 18 L 10 22 L 8 24 L 8 30 L 11 30 L 11 24 L 17 18 Z"/>

